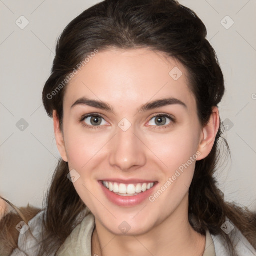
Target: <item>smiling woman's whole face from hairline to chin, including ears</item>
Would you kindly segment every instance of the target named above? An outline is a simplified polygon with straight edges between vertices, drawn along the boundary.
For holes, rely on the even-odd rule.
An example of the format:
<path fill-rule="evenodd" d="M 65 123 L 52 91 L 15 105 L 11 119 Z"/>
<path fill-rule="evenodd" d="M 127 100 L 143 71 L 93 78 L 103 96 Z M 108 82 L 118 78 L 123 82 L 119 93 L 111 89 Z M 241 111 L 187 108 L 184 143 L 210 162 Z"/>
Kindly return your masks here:
<path fill-rule="evenodd" d="M 200 126 L 185 67 L 145 48 L 95 54 L 66 87 L 63 133 L 54 125 L 77 193 L 114 234 L 187 215 L 195 162 L 218 128 Z"/>

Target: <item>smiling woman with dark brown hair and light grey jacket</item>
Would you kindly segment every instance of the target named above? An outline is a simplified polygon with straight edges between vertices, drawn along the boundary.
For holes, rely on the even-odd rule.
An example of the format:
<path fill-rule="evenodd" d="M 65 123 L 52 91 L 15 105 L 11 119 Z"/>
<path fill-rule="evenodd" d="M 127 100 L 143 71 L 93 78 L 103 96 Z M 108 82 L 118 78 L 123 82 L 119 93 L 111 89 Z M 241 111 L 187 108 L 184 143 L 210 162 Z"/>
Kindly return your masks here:
<path fill-rule="evenodd" d="M 174 0 L 105 0 L 68 24 L 42 93 L 61 159 L 45 209 L 2 217 L 3 255 L 256 255 L 255 214 L 213 177 L 224 82 L 205 37 Z"/>

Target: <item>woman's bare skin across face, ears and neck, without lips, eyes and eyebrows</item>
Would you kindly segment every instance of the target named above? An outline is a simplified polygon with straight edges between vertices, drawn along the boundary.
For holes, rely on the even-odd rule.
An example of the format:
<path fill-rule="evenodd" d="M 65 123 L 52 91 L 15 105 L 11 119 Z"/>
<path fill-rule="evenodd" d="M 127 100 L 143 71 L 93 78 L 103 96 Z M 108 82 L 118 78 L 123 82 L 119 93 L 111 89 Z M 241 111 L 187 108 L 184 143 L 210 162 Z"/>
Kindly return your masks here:
<path fill-rule="evenodd" d="M 174 67 L 183 73 L 178 80 L 169 75 Z M 81 96 L 107 102 L 115 114 L 87 105 L 70 108 Z M 173 104 L 137 112 L 148 101 L 166 97 L 183 101 L 187 109 Z M 79 118 L 89 113 L 103 115 L 101 128 L 90 117 L 83 122 L 96 128 L 82 126 Z M 163 128 L 157 117 L 152 118 L 160 113 L 170 114 L 176 122 Z M 127 131 L 118 127 L 123 118 L 132 124 Z M 165 126 L 171 122 L 167 117 L 163 120 Z M 210 153 L 219 127 L 218 108 L 212 108 L 209 122 L 202 127 L 180 62 L 146 48 L 99 51 L 66 87 L 63 130 L 55 110 L 53 122 L 62 159 L 80 175 L 73 185 L 95 216 L 92 255 L 203 254 L 205 236 L 194 231 L 187 214 L 196 161 L 154 202 L 146 199 L 136 206 L 117 206 L 98 183 L 107 178 L 141 178 L 158 181 L 158 190 L 197 151 L 196 160 Z M 131 227 L 125 235 L 118 228 L 123 221 Z"/>

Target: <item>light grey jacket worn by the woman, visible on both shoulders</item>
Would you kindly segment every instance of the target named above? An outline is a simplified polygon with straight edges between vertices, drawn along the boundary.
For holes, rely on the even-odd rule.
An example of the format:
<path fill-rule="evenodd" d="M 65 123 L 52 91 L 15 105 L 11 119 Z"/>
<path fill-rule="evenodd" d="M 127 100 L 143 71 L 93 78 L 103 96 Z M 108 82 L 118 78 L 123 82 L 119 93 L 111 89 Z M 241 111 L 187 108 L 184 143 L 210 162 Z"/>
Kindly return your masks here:
<path fill-rule="evenodd" d="M 94 216 L 86 209 L 83 213 L 84 215 L 80 215 L 82 221 L 74 228 L 72 233 L 67 237 L 64 244 L 57 251 L 57 256 L 92 256 L 91 255 L 91 236 L 95 226 Z M 32 234 L 39 241 L 42 235 L 42 218 L 43 211 L 38 213 L 34 218 L 32 218 L 29 222 L 29 228 Z M 22 224 L 21 224 L 22 225 Z M 21 226 L 19 226 L 21 227 Z M 30 232 L 27 231 L 27 226 L 23 224 L 20 228 L 20 234 L 18 238 L 18 247 L 15 249 L 11 256 L 34 256 L 38 251 L 38 242 L 31 236 Z M 239 256 L 256 256 L 256 250 L 252 247 L 252 245 L 248 242 L 248 240 L 242 235 L 242 233 L 230 222 L 226 221 L 222 225 L 223 232 L 228 235 L 237 250 Z M 207 232 L 209 235 L 209 232 Z M 226 244 L 223 241 L 223 238 L 220 235 L 211 235 L 211 238 L 214 243 L 215 255 L 216 256 L 229 256 L 228 250 L 226 248 Z M 206 234 L 206 244 L 209 245 L 209 242 L 212 241 L 207 238 Z M 207 245 L 207 246 L 208 246 Z M 213 247 L 213 246 L 212 246 Z M 206 246 L 205 246 L 206 248 Z M 22 252 L 23 251 L 23 252 Z M 45 252 L 45 256 L 53 256 L 48 255 Z M 203 256 L 215 256 L 214 252 L 204 252 Z"/>

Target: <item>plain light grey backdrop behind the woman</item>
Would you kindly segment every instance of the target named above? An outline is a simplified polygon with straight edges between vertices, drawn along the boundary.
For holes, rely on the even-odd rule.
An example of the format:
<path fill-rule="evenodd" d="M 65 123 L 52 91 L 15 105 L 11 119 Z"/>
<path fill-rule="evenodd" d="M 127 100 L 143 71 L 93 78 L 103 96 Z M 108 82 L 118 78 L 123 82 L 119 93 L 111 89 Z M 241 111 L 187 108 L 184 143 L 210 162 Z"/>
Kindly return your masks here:
<path fill-rule="evenodd" d="M 42 206 L 60 157 L 41 99 L 56 39 L 97 2 L 0 0 L 0 194 L 17 206 Z M 223 147 L 219 187 L 226 200 L 256 210 L 256 1 L 179 2 L 206 25 L 224 73 L 219 111 L 231 159 Z"/>

